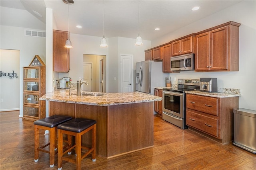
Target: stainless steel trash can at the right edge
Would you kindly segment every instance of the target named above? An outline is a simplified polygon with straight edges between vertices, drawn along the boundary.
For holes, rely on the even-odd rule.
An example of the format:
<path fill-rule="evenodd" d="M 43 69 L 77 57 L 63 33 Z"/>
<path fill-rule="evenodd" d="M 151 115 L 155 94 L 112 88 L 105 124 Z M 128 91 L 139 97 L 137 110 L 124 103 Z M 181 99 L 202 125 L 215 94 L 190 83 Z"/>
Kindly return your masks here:
<path fill-rule="evenodd" d="M 256 154 L 256 111 L 244 108 L 233 109 L 233 144 Z"/>

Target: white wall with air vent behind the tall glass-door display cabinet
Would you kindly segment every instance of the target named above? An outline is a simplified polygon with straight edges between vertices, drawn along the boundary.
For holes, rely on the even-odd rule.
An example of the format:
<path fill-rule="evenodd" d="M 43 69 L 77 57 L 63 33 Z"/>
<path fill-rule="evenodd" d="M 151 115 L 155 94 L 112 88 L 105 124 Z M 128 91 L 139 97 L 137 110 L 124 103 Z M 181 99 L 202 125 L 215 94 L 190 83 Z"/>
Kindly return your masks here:
<path fill-rule="evenodd" d="M 25 36 L 24 30 L 29 28 L 22 27 L 12 27 L 1 25 L 1 40 L 0 49 L 14 49 L 20 50 L 20 65 L 19 65 L 19 75 L 20 75 L 20 117 L 23 115 L 23 68 L 28 66 L 35 55 L 39 55 L 42 61 L 45 63 L 45 38 L 44 37 L 32 37 Z M 31 29 L 29 29 L 31 30 Z M 44 30 L 36 30 L 44 31 Z M 3 83 L 1 81 L 1 83 Z M 14 91 L 11 87 L 6 89 L 10 91 L 10 97 L 15 96 Z M 7 101 L 7 99 L 6 99 Z"/>

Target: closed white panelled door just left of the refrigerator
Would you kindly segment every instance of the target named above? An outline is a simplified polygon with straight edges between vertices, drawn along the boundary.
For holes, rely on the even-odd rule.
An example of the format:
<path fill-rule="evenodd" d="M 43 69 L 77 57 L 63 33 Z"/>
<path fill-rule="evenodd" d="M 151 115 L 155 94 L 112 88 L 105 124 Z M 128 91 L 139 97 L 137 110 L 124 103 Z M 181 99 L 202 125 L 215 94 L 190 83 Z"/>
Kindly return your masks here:
<path fill-rule="evenodd" d="M 133 91 L 133 55 L 120 55 L 120 92 Z"/>

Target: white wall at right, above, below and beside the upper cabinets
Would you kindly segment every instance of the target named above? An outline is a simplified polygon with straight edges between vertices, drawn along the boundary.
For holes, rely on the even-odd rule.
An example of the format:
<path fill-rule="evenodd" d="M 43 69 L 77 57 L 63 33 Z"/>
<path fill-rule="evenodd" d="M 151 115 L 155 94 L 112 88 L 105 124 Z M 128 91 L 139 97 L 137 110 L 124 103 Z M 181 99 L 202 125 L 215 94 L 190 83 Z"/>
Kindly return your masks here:
<path fill-rule="evenodd" d="M 152 41 L 158 46 L 176 38 L 196 33 L 228 21 L 241 23 L 239 27 L 239 71 L 238 72 L 181 72 L 172 73 L 173 78 L 218 78 L 218 87 L 241 90 L 239 107 L 256 110 L 256 1 L 242 1 L 230 8 L 216 12 L 202 20 L 178 29 Z"/>

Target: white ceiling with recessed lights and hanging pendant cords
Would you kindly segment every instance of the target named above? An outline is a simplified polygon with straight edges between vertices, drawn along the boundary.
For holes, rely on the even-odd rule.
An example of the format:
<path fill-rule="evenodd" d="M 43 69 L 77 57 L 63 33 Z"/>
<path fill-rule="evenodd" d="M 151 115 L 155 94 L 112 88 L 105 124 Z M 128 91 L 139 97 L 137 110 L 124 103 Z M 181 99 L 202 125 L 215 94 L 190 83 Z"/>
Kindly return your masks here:
<path fill-rule="evenodd" d="M 138 2 L 104 1 L 106 38 L 138 36 Z M 140 36 L 154 40 L 239 2 L 241 0 L 140 0 Z M 0 6 L 6 7 L 1 8 L 1 25 L 45 30 L 45 8 L 51 8 L 58 30 L 68 30 L 68 5 L 62 0 L 1 0 Z M 192 11 L 194 6 L 200 9 Z M 69 5 L 69 18 L 70 33 L 103 36 L 103 0 L 74 0 L 74 4 Z M 160 30 L 155 31 L 156 27 Z"/>

